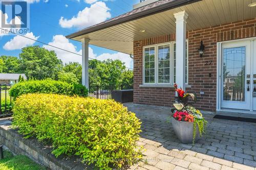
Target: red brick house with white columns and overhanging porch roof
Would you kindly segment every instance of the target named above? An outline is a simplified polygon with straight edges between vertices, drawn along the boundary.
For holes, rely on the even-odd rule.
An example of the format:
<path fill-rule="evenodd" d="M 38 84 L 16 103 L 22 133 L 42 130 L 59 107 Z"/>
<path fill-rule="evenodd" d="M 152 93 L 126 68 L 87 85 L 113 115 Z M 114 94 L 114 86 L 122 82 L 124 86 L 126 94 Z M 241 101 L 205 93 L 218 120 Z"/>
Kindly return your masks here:
<path fill-rule="evenodd" d="M 202 110 L 256 110 L 256 1 L 147 0 L 67 38 L 82 42 L 86 86 L 93 44 L 134 56 L 134 103 L 172 106 L 176 82 Z M 224 69 L 240 97 L 224 98 Z"/>

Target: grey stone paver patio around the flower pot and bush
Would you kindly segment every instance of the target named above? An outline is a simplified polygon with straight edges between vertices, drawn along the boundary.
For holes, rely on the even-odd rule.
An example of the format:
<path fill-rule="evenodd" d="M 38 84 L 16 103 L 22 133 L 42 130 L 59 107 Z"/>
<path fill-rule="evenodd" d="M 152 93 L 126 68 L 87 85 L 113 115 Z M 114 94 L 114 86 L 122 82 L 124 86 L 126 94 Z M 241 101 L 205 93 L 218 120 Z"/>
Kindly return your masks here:
<path fill-rule="evenodd" d="M 130 169 L 256 170 L 256 124 L 212 118 L 197 143 L 182 144 L 170 123 L 170 108 L 124 104 L 141 119 L 144 159 Z M 168 121 L 169 120 L 169 121 Z M 168 123 L 169 122 L 169 123 Z"/>

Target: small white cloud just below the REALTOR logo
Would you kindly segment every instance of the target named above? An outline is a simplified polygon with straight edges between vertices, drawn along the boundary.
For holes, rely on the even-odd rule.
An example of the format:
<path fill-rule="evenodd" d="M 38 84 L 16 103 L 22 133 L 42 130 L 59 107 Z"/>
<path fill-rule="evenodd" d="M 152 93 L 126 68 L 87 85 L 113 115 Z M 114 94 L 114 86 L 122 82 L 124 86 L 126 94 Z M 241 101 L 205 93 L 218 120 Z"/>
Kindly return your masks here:
<path fill-rule="evenodd" d="M 37 40 L 39 38 L 39 36 L 38 37 L 34 36 L 32 32 L 27 33 L 24 36 L 29 37 L 31 39 L 35 39 L 35 40 Z M 17 35 L 4 45 L 4 49 L 5 50 L 19 50 L 19 49 L 22 49 L 23 47 L 33 45 L 35 43 L 35 41 L 31 40 L 31 39 Z"/>

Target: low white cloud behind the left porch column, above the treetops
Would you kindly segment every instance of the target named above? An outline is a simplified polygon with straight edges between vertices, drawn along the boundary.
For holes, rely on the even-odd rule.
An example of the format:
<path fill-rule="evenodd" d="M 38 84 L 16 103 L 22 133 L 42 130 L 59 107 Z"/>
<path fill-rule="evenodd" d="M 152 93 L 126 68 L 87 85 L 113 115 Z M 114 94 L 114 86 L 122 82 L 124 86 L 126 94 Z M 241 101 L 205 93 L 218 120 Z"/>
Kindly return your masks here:
<path fill-rule="evenodd" d="M 55 35 L 53 36 L 52 42 L 48 43 L 49 45 L 53 45 L 62 49 L 65 49 L 67 51 L 77 53 L 77 54 L 82 54 L 81 50 L 77 50 L 77 47 L 69 42 L 69 39 L 67 39 L 63 35 Z M 63 63 L 69 63 L 69 62 L 79 62 L 82 63 L 82 57 L 67 51 L 59 50 L 58 48 L 49 46 L 49 45 L 44 45 L 47 50 L 50 51 L 55 51 L 57 54 L 57 57 L 63 62 Z M 125 66 L 129 68 L 133 68 L 133 60 L 130 58 L 130 55 L 123 54 L 123 53 L 114 53 L 114 54 L 109 54 L 109 53 L 104 53 L 99 56 L 93 53 L 93 49 L 89 47 L 89 58 L 97 59 L 100 61 L 106 60 L 106 59 L 119 59 L 122 62 L 125 62 Z"/>

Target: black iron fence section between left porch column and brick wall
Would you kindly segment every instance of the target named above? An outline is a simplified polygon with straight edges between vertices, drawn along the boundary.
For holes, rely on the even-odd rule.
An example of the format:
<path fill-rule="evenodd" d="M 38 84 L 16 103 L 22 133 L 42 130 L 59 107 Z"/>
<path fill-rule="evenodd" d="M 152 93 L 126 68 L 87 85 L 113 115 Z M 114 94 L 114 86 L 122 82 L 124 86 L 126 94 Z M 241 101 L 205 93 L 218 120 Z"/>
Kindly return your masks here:
<path fill-rule="evenodd" d="M 133 89 L 131 85 L 122 84 L 90 84 L 89 85 L 89 96 L 97 99 L 112 99 L 113 90 L 129 90 Z"/>

